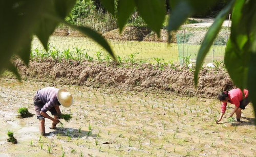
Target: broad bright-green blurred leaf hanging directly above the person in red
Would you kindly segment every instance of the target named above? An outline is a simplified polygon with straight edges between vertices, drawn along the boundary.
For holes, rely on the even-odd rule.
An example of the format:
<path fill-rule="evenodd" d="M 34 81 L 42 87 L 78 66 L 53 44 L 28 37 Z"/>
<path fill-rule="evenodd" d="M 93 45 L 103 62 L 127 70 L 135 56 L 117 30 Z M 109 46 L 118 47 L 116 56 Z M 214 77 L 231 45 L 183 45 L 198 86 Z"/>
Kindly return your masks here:
<path fill-rule="evenodd" d="M 248 47 L 246 46 L 249 42 L 248 37 L 246 33 L 240 31 L 239 28 L 240 24 L 245 24 L 241 23 L 243 18 L 241 13 L 245 1 L 246 0 L 237 1 L 234 5 L 231 34 L 224 57 L 225 65 L 233 83 L 242 89 L 246 87 L 247 84 L 247 72 L 249 63 L 248 60 L 244 60 L 249 57 L 249 51 L 247 49 Z"/>

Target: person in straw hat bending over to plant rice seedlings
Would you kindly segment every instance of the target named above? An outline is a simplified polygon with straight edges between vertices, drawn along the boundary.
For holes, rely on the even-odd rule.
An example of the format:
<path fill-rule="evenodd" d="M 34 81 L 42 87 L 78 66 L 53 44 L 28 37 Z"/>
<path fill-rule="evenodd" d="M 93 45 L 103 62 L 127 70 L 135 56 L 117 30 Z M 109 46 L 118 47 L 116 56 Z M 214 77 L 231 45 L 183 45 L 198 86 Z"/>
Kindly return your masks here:
<path fill-rule="evenodd" d="M 72 95 L 65 89 L 57 89 L 54 87 L 47 87 L 38 90 L 34 96 L 34 106 L 37 119 L 39 119 L 40 134 L 45 136 L 45 118 L 52 120 L 50 129 L 56 129 L 56 124 L 59 123 L 58 115 L 61 114 L 59 106 L 70 107 L 73 103 Z M 50 111 L 53 118 L 46 112 Z"/>

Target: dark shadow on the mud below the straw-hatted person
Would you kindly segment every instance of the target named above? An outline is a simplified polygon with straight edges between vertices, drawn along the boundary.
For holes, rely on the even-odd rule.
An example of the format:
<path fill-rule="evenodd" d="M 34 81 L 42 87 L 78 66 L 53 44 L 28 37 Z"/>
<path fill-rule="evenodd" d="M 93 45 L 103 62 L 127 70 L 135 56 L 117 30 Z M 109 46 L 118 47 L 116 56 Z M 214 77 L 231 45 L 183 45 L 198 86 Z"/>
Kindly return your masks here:
<path fill-rule="evenodd" d="M 48 137 L 59 136 L 59 137 L 71 137 L 71 138 L 82 138 L 82 137 L 100 137 L 97 134 L 92 134 L 92 132 L 88 132 L 85 130 L 80 130 L 76 128 L 68 128 L 68 127 L 58 127 L 53 132 L 49 132 L 46 134 Z"/>

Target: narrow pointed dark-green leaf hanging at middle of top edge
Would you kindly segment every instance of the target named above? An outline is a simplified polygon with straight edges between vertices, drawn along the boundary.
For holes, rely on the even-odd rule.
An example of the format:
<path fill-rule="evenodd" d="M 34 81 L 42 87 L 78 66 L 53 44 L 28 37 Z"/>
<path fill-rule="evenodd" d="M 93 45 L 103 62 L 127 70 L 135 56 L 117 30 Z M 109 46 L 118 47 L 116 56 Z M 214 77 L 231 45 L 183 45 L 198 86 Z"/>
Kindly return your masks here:
<path fill-rule="evenodd" d="M 133 13 L 135 8 L 134 0 L 119 0 L 117 5 L 117 22 L 120 33 L 123 30 L 127 19 Z"/>

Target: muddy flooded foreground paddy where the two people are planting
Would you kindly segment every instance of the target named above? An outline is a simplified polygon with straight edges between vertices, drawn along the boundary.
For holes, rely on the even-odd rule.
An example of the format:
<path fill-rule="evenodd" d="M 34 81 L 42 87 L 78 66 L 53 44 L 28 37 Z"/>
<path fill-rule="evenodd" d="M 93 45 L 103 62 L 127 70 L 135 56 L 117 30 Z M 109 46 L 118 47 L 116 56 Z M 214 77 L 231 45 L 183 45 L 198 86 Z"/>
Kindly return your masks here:
<path fill-rule="evenodd" d="M 0 156 L 254 156 L 255 126 L 252 106 L 243 111 L 242 123 L 222 124 L 220 103 L 214 99 L 175 97 L 83 86 L 56 85 L 74 96 L 71 122 L 40 137 L 36 116 L 16 118 L 20 107 L 34 113 L 32 98 L 43 82 L 1 79 Z M 217 116 L 217 117 L 216 117 Z M 89 134 L 89 125 L 92 132 Z M 12 130 L 17 144 L 7 142 Z M 49 148 L 51 148 L 49 153 Z"/>

